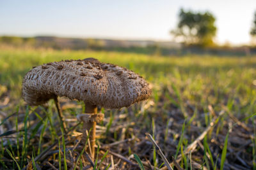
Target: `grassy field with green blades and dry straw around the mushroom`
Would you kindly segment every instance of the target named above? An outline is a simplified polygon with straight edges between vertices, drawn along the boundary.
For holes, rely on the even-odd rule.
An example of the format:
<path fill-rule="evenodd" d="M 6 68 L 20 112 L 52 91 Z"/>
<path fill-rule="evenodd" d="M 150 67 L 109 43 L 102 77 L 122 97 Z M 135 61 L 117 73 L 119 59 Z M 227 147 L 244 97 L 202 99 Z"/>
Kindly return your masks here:
<path fill-rule="evenodd" d="M 30 107 L 20 97 L 22 77 L 32 66 L 87 57 L 132 69 L 152 85 L 148 101 L 121 110 L 102 108 L 99 157 L 91 164 L 76 146 L 82 130 L 76 115 L 83 112 L 83 103 L 60 99 L 71 131 L 64 135 L 53 101 Z M 166 169 L 146 132 L 172 166 L 256 169 L 255 113 L 256 56 L 167 57 L 0 46 L 1 169 Z"/>

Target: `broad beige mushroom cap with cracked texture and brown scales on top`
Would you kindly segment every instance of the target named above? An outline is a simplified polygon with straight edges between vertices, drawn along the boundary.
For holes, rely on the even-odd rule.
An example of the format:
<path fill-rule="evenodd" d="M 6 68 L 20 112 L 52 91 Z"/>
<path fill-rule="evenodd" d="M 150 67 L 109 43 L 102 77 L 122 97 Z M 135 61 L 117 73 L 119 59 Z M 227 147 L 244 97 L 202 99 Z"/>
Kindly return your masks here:
<path fill-rule="evenodd" d="M 150 94 L 148 83 L 138 74 L 93 58 L 33 67 L 22 81 L 22 97 L 30 105 L 65 96 L 104 108 L 122 108 Z"/>

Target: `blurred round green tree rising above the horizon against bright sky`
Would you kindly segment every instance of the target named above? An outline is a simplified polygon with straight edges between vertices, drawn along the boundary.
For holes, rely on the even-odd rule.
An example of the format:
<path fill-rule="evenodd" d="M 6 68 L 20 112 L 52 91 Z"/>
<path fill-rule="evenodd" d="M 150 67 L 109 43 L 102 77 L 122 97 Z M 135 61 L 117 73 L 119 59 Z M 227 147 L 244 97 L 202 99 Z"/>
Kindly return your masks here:
<path fill-rule="evenodd" d="M 200 13 L 181 9 L 177 29 L 171 33 L 186 45 L 212 46 L 217 30 L 215 20 L 208 11 Z"/>

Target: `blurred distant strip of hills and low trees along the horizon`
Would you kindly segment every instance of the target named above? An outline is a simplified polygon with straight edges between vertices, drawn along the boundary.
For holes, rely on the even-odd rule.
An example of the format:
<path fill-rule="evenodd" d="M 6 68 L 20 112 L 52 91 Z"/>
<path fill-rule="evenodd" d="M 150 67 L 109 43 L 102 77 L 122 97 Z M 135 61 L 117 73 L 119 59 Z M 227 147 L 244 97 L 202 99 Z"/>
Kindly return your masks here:
<path fill-rule="evenodd" d="M 110 44 L 109 44 L 110 41 Z M 152 44 L 147 46 L 125 46 L 126 41 L 102 40 L 102 39 L 82 39 L 82 38 L 58 38 L 40 36 L 33 38 L 22 38 L 17 36 L 0 36 L 0 46 L 8 45 L 15 47 L 52 48 L 54 50 L 104 50 L 125 53 L 143 53 L 147 55 L 175 55 L 182 56 L 188 54 L 195 55 L 237 55 L 244 56 L 256 53 L 256 48 L 252 47 L 225 47 L 214 46 L 211 48 L 201 48 L 200 46 L 180 46 L 179 48 L 160 46 Z M 249 52 L 249 53 L 248 53 Z"/>

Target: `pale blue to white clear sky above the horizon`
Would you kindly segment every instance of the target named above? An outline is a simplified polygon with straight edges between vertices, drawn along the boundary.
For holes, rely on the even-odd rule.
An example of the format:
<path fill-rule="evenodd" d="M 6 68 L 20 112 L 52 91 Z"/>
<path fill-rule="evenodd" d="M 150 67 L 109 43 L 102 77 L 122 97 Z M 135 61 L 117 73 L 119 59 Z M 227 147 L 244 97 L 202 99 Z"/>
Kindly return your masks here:
<path fill-rule="evenodd" d="M 210 11 L 217 43 L 251 41 L 255 0 L 0 0 L 0 35 L 172 41 L 180 8 Z"/>

